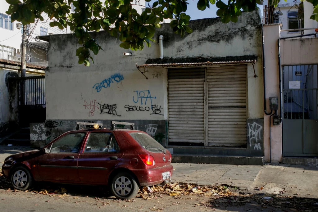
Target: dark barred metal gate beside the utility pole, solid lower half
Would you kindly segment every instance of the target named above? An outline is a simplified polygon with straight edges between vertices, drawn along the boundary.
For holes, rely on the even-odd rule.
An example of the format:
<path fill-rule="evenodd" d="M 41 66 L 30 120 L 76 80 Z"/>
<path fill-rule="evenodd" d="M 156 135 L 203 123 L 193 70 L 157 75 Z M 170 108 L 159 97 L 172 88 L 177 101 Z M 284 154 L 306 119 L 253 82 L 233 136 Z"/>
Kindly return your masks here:
<path fill-rule="evenodd" d="M 45 122 L 45 76 L 22 77 L 18 80 L 19 126 Z"/>

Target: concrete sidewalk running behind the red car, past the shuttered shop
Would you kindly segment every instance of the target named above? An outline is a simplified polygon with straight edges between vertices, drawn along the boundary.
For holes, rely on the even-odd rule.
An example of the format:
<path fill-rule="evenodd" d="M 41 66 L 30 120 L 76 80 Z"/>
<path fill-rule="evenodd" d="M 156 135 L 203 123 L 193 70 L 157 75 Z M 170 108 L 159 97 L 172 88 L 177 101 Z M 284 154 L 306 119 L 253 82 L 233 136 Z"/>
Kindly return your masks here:
<path fill-rule="evenodd" d="M 0 165 L 10 154 L 30 150 L 24 146 L 0 145 Z M 198 185 L 226 184 L 242 192 L 300 195 L 318 198 L 318 168 L 288 164 L 264 166 L 172 163 L 173 182 Z M 259 189 L 262 188 L 263 189 Z"/>

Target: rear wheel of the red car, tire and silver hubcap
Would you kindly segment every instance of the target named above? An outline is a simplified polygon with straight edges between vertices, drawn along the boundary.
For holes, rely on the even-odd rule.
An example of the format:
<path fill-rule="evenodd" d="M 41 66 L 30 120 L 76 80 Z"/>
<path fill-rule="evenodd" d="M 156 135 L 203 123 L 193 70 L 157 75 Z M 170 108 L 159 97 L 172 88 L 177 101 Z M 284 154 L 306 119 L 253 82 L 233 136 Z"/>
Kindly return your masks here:
<path fill-rule="evenodd" d="M 131 174 L 121 172 L 112 178 L 110 190 L 116 198 L 128 200 L 137 195 L 139 186 Z"/>

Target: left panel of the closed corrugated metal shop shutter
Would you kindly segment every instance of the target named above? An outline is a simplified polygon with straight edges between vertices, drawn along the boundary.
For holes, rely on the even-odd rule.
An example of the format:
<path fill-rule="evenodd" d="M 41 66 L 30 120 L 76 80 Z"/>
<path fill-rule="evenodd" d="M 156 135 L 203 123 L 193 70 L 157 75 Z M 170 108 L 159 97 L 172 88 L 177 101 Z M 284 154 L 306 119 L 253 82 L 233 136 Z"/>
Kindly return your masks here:
<path fill-rule="evenodd" d="M 204 145 L 204 75 L 204 69 L 168 70 L 169 145 Z"/>

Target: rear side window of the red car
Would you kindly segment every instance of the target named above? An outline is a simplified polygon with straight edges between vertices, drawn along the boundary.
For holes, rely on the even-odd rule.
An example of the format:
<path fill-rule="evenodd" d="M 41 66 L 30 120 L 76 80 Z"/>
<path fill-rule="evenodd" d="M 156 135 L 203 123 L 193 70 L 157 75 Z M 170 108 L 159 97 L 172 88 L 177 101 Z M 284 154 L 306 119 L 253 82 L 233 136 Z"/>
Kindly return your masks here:
<path fill-rule="evenodd" d="M 84 149 L 84 153 L 118 151 L 119 147 L 112 133 L 91 133 Z"/>

